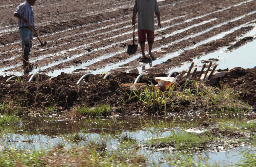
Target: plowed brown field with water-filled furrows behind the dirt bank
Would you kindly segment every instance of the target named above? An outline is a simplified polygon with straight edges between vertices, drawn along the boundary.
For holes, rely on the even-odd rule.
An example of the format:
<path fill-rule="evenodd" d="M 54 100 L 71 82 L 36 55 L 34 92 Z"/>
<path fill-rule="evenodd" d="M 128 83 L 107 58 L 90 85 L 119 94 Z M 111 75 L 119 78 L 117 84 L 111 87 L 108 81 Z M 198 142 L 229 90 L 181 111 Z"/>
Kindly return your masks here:
<path fill-rule="evenodd" d="M 21 42 L 13 12 L 21 1 L 1 1 L 0 75 L 23 75 Z M 169 69 L 237 41 L 255 23 L 255 0 L 161 0 L 162 28 L 156 29 L 156 60 L 127 54 L 132 43 L 133 1 L 36 1 L 35 22 L 45 48 L 34 39 L 34 71 L 58 76 L 61 72 L 129 72 L 143 64 L 144 73 Z M 157 19 L 156 28 L 157 28 Z M 137 31 L 137 30 L 136 30 Z M 147 47 L 146 47 L 147 51 Z"/>

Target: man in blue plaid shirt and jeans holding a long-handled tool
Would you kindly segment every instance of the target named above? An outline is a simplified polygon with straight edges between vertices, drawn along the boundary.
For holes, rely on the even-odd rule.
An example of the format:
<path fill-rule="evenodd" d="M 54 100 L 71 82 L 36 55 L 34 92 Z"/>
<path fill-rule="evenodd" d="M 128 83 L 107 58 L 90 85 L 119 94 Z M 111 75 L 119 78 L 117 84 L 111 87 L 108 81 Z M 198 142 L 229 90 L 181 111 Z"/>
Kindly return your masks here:
<path fill-rule="evenodd" d="M 37 37 L 37 33 L 33 34 L 32 31 L 28 28 L 28 25 L 32 29 L 36 29 L 34 23 L 34 10 L 32 6 L 35 4 L 36 0 L 26 0 L 17 7 L 17 10 L 14 12 L 14 16 L 18 18 L 19 25 L 19 34 L 21 36 L 21 46 L 22 46 L 22 58 L 23 58 L 23 67 L 29 67 L 28 69 L 32 70 L 32 65 L 29 63 L 30 50 L 32 48 L 33 35 Z"/>

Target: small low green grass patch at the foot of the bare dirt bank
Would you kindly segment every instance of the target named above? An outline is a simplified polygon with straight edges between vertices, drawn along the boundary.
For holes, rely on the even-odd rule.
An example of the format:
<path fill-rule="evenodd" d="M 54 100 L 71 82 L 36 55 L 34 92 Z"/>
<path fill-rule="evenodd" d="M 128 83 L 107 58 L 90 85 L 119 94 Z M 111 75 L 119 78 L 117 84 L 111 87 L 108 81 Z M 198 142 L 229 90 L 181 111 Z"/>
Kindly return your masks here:
<path fill-rule="evenodd" d="M 110 116 L 111 108 L 110 105 L 95 105 L 94 108 L 88 108 L 84 106 L 82 108 L 78 108 L 77 112 L 83 116 Z"/>

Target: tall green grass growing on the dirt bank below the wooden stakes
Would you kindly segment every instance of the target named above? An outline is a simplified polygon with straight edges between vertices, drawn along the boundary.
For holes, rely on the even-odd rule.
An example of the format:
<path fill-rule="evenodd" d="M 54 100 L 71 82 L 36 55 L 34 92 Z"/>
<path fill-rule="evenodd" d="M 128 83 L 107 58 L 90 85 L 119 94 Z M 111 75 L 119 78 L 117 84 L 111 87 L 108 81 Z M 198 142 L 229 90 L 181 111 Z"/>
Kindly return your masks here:
<path fill-rule="evenodd" d="M 122 91 L 119 101 L 123 105 L 137 103 L 141 105 L 142 111 L 153 112 L 156 115 L 194 110 L 202 114 L 236 117 L 250 110 L 249 105 L 240 99 L 240 92 L 228 86 L 210 87 L 200 81 L 192 80 L 186 81 L 181 88 L 173 85 L 164 92 L 157 90 L 153 85 L 143 85 L 130 92 Z"/>

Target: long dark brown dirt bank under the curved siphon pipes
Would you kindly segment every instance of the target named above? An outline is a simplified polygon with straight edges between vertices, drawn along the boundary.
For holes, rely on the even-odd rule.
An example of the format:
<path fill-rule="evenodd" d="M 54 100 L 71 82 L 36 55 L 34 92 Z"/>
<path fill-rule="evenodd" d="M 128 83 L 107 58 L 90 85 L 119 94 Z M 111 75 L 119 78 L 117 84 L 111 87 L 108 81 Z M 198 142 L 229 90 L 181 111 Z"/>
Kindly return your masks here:
<path fill-rule="evenodd" d="M 48 80 L 46 75 L 36 75 L 32 82 L 28 82 L 31 75 L 20 76 L 16 80 L 6 82 L 1 76 L 0 100 L 13 100 L 15 103 L 24 103 L 28 106 L 41 105 L 74 106 L 95 104 L 115 105 L 120 97 L 120 91 L 129 87 L 125 83 L 134 83 L 138 74 L 113 73 L 109 79 L 103 79 L 104 74 L 91 75 L 79 85 L 77 81 L 83 74 L 61 73 L 59 76 Z M 144 77 L 142 82 L 151 84 L 154 78 Z M 155 82 L 155 81 L 154 81 Z"/>

